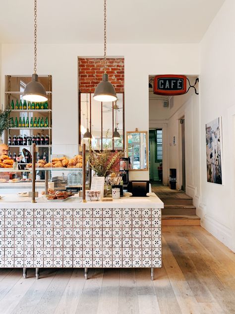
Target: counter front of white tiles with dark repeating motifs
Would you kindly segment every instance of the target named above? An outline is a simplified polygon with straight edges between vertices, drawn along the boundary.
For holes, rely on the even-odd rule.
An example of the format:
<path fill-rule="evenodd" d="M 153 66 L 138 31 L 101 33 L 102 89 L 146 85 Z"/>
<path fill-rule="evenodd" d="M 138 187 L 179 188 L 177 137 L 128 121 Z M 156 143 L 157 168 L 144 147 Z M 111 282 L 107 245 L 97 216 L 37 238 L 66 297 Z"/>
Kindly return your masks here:
<path fill-rule="evenodd" d="M 0 203 L 0 267 L 161 267 L 163 204 L 63 203 Z"/>

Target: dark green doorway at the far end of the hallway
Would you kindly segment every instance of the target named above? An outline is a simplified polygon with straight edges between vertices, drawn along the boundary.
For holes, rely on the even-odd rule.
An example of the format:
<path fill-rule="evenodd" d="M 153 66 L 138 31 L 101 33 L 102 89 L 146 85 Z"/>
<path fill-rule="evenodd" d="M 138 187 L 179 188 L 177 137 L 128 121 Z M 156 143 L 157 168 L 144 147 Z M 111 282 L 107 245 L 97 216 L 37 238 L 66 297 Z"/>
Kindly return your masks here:
<path fill-rule="evenodd" d="M 149 130 L 149 180 L 163 185 L 163 130 Z"/>

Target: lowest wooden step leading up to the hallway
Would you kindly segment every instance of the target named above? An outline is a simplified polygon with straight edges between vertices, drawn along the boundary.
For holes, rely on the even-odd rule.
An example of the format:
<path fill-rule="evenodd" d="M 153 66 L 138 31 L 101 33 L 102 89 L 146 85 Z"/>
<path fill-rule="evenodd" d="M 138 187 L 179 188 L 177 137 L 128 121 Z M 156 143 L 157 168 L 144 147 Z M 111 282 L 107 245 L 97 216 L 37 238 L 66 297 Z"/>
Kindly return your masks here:
<path fill-rule="evenodd" d="M 200 226 L 196 215 L 162 215 L 162 226 Z"/>

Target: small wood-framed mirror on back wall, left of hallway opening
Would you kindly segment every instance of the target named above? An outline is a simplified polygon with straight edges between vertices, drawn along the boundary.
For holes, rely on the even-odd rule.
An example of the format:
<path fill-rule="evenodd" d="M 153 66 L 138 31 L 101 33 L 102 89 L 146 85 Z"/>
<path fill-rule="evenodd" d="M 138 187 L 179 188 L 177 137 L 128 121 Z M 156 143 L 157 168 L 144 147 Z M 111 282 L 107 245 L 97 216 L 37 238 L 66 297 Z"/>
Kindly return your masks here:
<path fill-rule="evenodd" d="M 129 170 L 148 170 L 148 133 L 147 131 L 126 132 Z"/>

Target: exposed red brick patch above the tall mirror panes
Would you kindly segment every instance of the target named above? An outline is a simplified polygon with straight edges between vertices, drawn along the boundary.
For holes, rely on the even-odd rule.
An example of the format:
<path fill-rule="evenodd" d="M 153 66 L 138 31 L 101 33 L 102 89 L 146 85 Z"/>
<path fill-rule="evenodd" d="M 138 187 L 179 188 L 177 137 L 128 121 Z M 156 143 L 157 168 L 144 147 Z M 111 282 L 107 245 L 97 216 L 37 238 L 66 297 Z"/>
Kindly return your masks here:
<path fill-rule="evenodd" d="M 94 92 L 104 73 L 104 59 L 78 58 L 79 91 Z M 116 92 L 124 91 L 124 58 L 107 58 L 107 74 Z"/>

